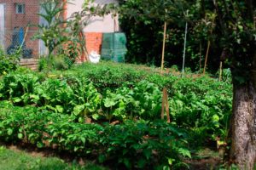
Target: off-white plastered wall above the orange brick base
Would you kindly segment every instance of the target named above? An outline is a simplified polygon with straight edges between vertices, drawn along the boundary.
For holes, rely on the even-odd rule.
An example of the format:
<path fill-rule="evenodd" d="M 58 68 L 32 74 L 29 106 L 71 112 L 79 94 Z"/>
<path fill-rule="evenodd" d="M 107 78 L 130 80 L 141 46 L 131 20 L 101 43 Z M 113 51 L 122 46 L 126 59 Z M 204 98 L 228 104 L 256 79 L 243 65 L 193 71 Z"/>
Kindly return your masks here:
<path fill-rule="evenodd" d="M 74 12 L 78 12 L 82 9 L 84 0 L 73 0 L 72 4 L 67 4 L 67 18 Z M 95 0 L 96 4 L 117 3 L 117 0 Z M 92 17 L 90 24 L 84 28 L 85 32 L 113 32 L 119 31 L 118 17 L 116 17 L 116 26 L 114 28 L 114 19 L 111 14 L 104 17 Z"/>

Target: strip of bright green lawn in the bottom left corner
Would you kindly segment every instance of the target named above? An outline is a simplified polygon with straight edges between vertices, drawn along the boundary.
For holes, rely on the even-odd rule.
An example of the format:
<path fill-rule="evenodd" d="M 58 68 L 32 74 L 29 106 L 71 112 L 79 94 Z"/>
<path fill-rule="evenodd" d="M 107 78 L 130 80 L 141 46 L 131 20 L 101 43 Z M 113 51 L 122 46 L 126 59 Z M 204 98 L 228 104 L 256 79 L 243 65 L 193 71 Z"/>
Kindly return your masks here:
<path fill-rule="evenodd" d="M 57 157 L 44 157 L 29 154 L 22 150 L 11 150 L 0 146 L 0 170 L 103 170 L 104 167 L 86 162 L 80 166 L 77 162 L 67 163 Z"/>

